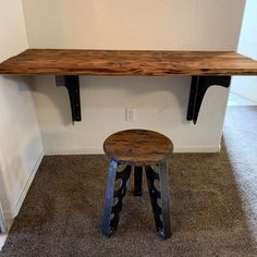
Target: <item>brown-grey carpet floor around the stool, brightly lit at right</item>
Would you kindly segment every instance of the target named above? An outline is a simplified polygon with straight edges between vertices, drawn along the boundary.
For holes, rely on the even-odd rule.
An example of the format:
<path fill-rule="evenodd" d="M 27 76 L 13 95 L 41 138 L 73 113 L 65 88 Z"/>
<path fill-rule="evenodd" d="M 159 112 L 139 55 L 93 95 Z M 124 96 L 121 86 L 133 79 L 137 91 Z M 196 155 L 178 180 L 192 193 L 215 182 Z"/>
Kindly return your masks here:
<path fill-rule="evenodd" d="M 142 197 L 131 180 L 106 238 L 106 157 L 45 157 L 0 256 L 257 256 L 256 128 L 257 108 L 229 108 L 221 152 L 173 155 L 167 241 L 155 233 L 146 180 Z"/>

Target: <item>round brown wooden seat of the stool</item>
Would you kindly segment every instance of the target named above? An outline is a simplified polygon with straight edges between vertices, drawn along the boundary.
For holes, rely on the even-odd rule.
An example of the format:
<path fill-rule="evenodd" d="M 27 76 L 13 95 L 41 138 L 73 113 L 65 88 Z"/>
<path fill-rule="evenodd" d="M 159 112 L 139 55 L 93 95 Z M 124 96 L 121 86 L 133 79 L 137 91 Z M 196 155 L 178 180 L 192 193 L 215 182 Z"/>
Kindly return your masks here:
<path fill-rule="evenodd" d="M 106 155 L 120 163 L 155 164 L 173 151 L 164 135 L 147 130 L 126 130 L 110 135 L 103 143 Z"/>

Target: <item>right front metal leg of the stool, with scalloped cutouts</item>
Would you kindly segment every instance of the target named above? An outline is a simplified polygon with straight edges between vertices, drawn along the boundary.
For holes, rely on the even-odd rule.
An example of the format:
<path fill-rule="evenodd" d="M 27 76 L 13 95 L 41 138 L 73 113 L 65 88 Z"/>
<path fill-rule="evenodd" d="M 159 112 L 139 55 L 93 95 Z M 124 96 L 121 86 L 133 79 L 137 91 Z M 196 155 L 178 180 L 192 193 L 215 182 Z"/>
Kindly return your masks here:
<path fill-rule="evenodd" d="M 151 199 L 151 206 L 156 222 L 156 229 L 158 235 L 162 238 L 169 238 L 171 236 L 170 231 L 170 208 L 169 208 L 169 181 L 167 175 L 166 161 L 159 166 L 159 173 L 150 167 L 146 167 L 147 184 Z M 160 191 L 156 187 L 156 184 L 160 184 Z"/>

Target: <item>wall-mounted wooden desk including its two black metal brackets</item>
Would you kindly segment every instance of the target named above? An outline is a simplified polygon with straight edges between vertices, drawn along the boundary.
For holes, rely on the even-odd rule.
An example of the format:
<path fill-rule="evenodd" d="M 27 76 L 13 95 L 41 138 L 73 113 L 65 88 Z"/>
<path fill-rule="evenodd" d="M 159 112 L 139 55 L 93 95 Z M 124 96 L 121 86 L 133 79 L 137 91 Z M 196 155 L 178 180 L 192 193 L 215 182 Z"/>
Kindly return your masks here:
<path fill-rule="evenodd" d="M 208 87 L 231 75 L 257 75 L 257 61 L 232 51 L 28 49 L 0 64 L 0 74 L 57 76 L 68 88 L 73 121 L 81 121 L 78 75 L 192 76 L 188 121 L 196 123 Z"/>

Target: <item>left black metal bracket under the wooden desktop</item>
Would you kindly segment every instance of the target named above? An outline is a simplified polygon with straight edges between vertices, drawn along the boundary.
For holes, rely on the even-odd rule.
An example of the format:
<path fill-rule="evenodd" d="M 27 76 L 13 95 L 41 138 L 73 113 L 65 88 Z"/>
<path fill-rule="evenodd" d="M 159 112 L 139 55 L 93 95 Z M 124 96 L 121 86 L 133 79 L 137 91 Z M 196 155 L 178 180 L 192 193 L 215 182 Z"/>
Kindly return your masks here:
<path fill-rule="evenodd" d="M 79 96 L 79 77 L 77 75 L 56 76 L 57 86 L 64 86 L 68 89 L 71 110 L 72 122 L 82 121 L 81 111 L 81 96 Z"/>

